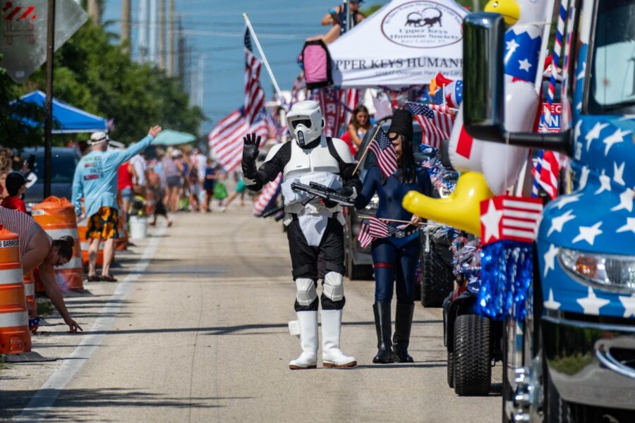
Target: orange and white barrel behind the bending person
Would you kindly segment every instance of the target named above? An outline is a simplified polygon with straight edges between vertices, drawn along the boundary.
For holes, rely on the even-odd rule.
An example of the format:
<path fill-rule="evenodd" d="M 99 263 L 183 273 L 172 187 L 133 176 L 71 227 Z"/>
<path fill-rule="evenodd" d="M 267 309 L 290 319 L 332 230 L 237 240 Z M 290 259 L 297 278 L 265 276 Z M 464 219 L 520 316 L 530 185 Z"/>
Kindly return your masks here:
<path fill-rule="evenodd" d="M 55 268 L 55 277 L 62 289 L 83 290 L 82 250 L 73 204 L 66 198 L 49 197 L 34 206 L 31 214 L 54 240 L 66 235 L 75 239 L 73 257 L 68 263 Z"/>

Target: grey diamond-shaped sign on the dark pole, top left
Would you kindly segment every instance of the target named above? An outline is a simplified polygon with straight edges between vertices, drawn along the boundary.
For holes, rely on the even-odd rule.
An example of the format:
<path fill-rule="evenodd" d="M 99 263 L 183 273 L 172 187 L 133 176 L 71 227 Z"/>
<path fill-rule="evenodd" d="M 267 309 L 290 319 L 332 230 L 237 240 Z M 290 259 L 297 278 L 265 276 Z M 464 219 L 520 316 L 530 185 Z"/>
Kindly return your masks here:
<path fill-rule="evenodd" d="M 47 61 L 47 0 L 0 0 L 0 68 L 18 84 Z M 88 19 L 75 0 L 56 0 L 55 50 Z"/>

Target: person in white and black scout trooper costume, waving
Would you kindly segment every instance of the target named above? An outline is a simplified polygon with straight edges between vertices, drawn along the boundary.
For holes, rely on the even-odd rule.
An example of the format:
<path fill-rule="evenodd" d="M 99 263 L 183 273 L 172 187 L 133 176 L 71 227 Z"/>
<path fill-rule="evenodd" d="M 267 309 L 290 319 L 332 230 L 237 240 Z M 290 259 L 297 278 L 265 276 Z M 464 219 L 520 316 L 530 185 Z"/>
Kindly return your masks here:
<path fill-rule="evenodd" d="M 260 190 L 284 175 L 284 224 L 287 227 L 291 264 L 296 283 L 295 309 L 300 324 L 302 353 L 289 363 L 290 369 L 317 366 L 317 257 L 324 260 L 322 283 L 322 362 L 324 367 L 352 367 L 354 357 L 339 349 L 341 312 L 344 307 L 344 217 L 337 203 L 322 202 L 305 192 L 291 189 L 291 183 L 326 185 L 341 194 L 356 197 L 361 181 L 353 176 L 353 157 L 344 141 L 322 135 L 325 121 L 314 101 L 294 104 L 287 114 L 294 141 L 275 145 L 265 163 L 256 168 L 260 138 L 245 137 L 243 179 L 250 190 Z M 303 204 L 304 203 L 304 204 Z"/>

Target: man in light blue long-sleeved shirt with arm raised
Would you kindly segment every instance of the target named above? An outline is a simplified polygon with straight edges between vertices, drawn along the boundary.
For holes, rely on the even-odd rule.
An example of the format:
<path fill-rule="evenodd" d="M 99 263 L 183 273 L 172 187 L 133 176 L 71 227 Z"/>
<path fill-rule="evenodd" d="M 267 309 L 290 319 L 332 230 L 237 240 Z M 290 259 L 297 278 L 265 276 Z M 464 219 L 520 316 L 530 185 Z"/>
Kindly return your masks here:
<path fill-rule="evenodd" d="M 78 163 L 73 178 L 73 204 L 75 212 L 82 216 L 81 200 L 84 198 L 88 228 L 88 281 L 116 282 L 110 274 L 110 264 L 114 249 L 114 238 L 119 228 L 117 212 L 117 170 L 124 162 L 145 150 L 152 140 L 161 133 L 160 126 L 154 126 L 148 135 L 126 150 L 107 151 L 109 138 L 105 133 L 90 136 L 91 152 Z M 104 264 L 102 276 L 97 276 L 96 262 L 99 243 L 104 241 Z"/>

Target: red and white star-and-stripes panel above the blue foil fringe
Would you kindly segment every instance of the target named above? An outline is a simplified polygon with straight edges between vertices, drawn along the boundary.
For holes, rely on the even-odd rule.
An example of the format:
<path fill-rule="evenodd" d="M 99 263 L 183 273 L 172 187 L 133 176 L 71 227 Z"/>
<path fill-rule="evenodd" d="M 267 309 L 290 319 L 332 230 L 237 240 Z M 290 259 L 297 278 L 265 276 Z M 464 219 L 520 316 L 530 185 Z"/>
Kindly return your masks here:
<path fill-rule="evenodd" d="M 500 240 L 532 243 L 538 235 L 543 202 L 538 198 L 500 195 L 480 202 L 480 243 Z"/>

